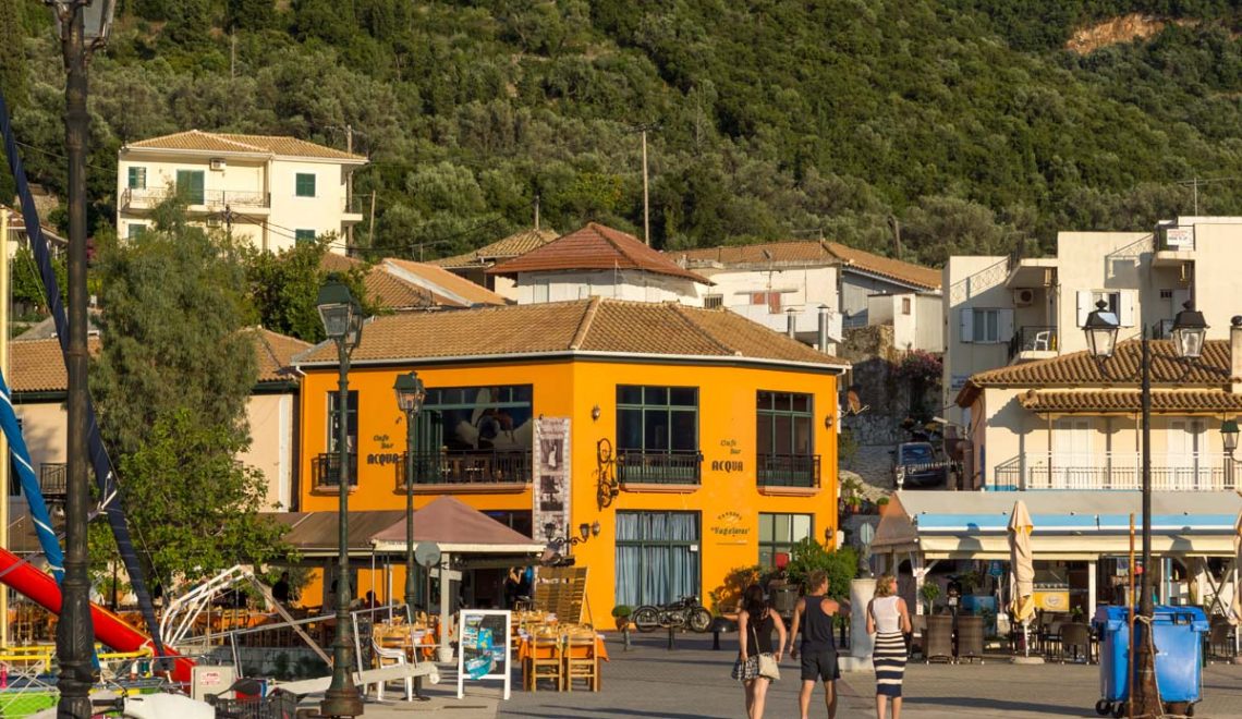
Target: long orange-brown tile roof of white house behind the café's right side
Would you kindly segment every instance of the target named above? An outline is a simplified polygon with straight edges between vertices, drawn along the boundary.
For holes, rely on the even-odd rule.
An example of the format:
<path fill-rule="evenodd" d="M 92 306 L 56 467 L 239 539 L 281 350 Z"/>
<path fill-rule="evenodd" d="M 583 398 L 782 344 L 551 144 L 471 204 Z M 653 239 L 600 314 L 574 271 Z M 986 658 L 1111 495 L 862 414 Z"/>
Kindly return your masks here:
<path fill-rule="evenodd" d="M 840 242 L 791 241 L 766 242 L 761 245 L 733 245 L 705 247 L 676 252 L 673 257 L 683 263 L 719 262 L 720 265 L 815 265 L 831 263 L 856 267 L 863 272 L 895 279 L 922 289 L 940 288 L 940 271 L 920 265 L 912 265 L 864 252 Z"/>

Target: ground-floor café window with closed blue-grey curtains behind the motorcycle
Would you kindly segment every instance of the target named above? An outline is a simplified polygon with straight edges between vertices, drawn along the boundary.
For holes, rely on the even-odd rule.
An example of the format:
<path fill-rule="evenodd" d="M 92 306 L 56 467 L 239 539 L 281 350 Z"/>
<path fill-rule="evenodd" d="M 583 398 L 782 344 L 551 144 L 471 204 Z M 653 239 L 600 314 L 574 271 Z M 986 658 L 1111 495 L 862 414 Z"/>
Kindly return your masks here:
<path fill-rule="evenodd" d="M 699 596 L 698 512 L 617 512 L 616 604 Z"/>

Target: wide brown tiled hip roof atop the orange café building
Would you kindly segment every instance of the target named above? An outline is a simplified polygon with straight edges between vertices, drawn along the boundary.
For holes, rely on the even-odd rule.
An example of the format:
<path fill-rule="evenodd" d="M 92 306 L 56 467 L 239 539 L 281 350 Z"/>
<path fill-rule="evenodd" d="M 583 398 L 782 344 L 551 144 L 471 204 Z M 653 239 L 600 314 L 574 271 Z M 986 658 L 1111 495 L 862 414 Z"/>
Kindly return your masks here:
<path fill-rule="evenodd" d="M 353 361 L 566 353 L 848 365 L 723 309 L 599 297 L 378 317 L 364 327 Z M 299 355 L 297 361 L 332 365 L 337 353 L 330 343 L 324 343 Z"/>

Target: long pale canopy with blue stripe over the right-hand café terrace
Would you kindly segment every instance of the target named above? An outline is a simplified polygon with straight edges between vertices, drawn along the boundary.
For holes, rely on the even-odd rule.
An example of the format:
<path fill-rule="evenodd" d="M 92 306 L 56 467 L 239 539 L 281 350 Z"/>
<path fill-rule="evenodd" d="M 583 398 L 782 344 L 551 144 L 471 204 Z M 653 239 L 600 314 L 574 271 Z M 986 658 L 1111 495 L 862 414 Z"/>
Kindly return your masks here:
<path fill-rule="evenodd" d="M 872 543 L 876 553 L 927 559 L 1009 559 L 1016 499 L 1031 513 L 1035 559 L 1087 560 L 1125 554 L 1139 492 L 898 492 Z M 1242 497 L 1232 492 L 1156 492 L 1151 548 L 1158 554 L 1231 556 Z"/>

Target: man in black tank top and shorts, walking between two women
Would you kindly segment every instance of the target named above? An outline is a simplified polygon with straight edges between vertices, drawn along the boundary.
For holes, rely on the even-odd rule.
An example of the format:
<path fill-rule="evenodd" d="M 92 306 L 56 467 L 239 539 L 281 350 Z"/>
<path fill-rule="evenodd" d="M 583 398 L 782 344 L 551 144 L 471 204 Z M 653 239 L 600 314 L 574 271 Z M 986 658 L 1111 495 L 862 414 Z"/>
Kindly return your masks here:
<path fill-rule="evenodd" d="M 799 692 L 797 703 L 801 709 L 801 719 L 810 719 L 811 693 L 815 683 L 823 682 L 825 702 L 828 705 L 828 719 L 837 717 L 837 692 L 836 682 L 841 677 L 837 668 L 837 642 L 832 636 L 832 620 L 837 613 L 848 612 L 848 607 L 841 606 L 836 600 L 827 596 L 828 575 L 823 570 L 815 570 L 806 577 L 806 584 L 811 594 L 797 600 L 794 610 L 794 628 L 790 644 L 790 657 L 802 657 L 802 689 Z M 802 630 L 802 646 L 796 643 L 797 630 Z"/>

